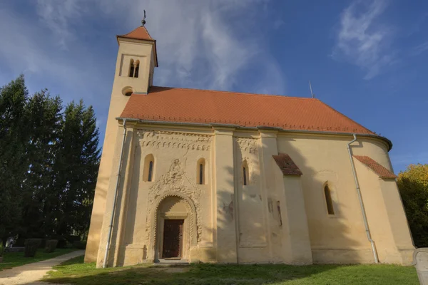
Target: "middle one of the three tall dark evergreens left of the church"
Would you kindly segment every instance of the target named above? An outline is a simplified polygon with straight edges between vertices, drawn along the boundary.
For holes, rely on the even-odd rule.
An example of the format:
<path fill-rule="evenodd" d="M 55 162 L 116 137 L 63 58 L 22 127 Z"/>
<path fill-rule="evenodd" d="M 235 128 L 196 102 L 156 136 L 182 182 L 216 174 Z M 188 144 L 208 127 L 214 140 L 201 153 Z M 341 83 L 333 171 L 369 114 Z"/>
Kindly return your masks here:
<path fill-rule="evenodd" d="M 54 189 L 54 162 L 58 152 L 61 130 L 61 99 L 51 98 L 47 90 L 36 93 L 27 104 L 30 134 L 24 191 L 24 219 L 26 236 L 46 237 L 54 234 L 56 190 Z"/>

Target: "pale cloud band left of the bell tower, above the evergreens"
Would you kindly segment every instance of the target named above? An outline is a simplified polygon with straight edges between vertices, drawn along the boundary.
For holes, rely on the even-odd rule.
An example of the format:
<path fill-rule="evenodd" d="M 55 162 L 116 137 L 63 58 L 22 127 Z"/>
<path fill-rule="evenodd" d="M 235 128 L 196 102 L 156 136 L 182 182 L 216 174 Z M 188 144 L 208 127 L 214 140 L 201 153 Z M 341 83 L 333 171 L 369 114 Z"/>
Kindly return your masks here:
<path fill-rule="evenodd" d="M 0 85 L 24 73 L 31 93 L 49 88 L 60 94 L 64 104 L 83 98 L 93 105 L 97 115 L 106 115 L 111 90 L 111 77 L 106 63 L 97 54 L 88 52 L 82 43 L 69 43 L 58 48 L 56 32 L 38 19 L 29 18 L 10 7 L 0 9 Z"/>

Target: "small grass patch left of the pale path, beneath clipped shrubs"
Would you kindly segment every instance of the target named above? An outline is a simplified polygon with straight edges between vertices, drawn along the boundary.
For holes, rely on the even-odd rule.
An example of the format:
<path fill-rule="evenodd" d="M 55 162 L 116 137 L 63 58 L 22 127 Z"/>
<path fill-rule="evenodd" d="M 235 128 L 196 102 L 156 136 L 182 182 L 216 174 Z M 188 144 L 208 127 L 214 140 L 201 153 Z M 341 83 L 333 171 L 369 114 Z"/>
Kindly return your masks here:
<path fill-rule="evenodd" d="M 46 253 L 44 249 L 37 249 L 35 257 L 24 257 L 24 252 L 4 252 L 3 262 L 0 262 L 0 271 L 32 262 L 51 259 L 63 254 L 68 254 L 68 252 L 74 252 L 75 250 L 76 249 L 56 249 L 55 252 Z"/>

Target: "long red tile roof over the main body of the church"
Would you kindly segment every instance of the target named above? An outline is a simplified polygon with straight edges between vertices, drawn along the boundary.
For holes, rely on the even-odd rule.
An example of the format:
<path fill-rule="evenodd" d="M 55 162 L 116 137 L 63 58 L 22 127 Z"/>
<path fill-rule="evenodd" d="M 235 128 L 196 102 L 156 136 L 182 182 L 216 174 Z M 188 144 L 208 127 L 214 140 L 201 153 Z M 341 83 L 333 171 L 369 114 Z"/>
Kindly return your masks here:
<path fill-rule="evenodd" d="M 374 135 L 318 99 L 185 88 L 133 94 L 121 118 Z"/>

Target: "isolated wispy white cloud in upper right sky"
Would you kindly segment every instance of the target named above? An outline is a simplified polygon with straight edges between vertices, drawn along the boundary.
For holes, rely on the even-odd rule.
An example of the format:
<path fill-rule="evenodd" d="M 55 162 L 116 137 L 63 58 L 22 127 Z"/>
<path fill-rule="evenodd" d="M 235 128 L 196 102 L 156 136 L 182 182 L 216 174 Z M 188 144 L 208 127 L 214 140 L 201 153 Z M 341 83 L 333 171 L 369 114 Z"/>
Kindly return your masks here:
<path fill-rule="evenodd" d="M 392 32 L 379 22 L 386 8 L 385 0 L 355 0 L 340 16 L 332 56 L 362 68 L 365 79 L 374 78 L 395 61 L 389 48 Z"/>

